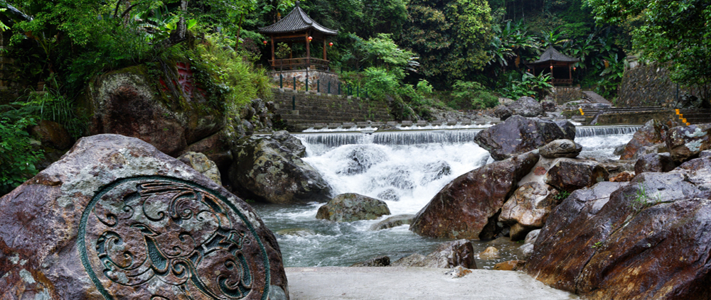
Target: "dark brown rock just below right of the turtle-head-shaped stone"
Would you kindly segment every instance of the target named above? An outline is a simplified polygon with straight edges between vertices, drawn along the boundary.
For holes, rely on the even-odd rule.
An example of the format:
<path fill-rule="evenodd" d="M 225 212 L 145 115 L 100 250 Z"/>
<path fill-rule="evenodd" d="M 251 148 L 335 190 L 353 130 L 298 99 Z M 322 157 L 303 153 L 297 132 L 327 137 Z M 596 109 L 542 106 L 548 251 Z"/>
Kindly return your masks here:
<path fill-rule="evenodd" d="M 545 175 L 545 183 L 564 191 L 592 187 L 608 179 L 609 172 L 604 167 L 594 161 L 582 160 L 559 160 Z"/>

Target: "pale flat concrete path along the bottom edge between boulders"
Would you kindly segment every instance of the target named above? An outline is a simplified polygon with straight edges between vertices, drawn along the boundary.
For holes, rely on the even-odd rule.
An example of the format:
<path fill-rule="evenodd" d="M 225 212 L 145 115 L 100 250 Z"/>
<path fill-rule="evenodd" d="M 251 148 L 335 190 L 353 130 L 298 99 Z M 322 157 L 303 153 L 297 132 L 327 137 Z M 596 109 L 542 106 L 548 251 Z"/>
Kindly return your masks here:
<path fill-rule="evenodd" d="M 579 299 L 515 271 L 471 270 L 461 278 L 449 269 L 423 267 L 287 267 L 292 300 Z"/>

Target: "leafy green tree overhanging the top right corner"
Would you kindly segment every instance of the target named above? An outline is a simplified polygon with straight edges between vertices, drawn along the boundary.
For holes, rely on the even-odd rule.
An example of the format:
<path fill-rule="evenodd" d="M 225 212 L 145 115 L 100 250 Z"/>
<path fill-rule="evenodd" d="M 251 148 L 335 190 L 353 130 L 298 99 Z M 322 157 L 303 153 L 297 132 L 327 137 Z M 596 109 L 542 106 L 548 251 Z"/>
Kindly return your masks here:
<path fill-rule="evenodd" d="M 710 0 L 585 0 L 598 23 L 632 25 L 632 45 L 646 60 L 670 67 L 672 79 L 711 89 Z M 638 24 L 638 25 L 637 25 Z"/>

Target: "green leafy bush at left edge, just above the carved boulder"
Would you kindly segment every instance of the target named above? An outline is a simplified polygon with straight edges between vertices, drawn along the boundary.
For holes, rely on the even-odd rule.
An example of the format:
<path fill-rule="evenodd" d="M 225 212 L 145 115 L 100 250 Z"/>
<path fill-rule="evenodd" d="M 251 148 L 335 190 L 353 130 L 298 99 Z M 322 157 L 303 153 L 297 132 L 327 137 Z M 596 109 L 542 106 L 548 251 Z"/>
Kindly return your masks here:
<path fill-rule="evenodd" d="M 33 149 L 27 133 L 27 128 L 34 125 L 36 119 L 26 113 L 0 113 L 0 195 L 37 173 L 35 165 L 43 159 L 43 153 Z"/>

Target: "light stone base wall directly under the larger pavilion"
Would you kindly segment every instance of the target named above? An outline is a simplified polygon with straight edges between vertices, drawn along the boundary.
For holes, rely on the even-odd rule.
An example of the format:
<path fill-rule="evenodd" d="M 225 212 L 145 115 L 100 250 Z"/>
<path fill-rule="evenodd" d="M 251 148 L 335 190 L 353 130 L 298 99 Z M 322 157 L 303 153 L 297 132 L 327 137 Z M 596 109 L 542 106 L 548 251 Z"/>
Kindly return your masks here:
<path fill-rule="evenodd" d="M 331 83 L 331 94 L 338 94 L 338 74 L 320 70 L 286 70 L 272 72 L 274 82 L 282 82 L 283 88 L 294 89 L 294 78 L 296 78 L 296 89 L 306 90 L 306 75 L 309 75 L 309 91 L 323 92 L 328 94 L 328 84 Z M 279 78 L 281 75 L 281 79 Z"/>

